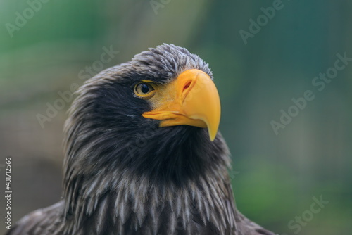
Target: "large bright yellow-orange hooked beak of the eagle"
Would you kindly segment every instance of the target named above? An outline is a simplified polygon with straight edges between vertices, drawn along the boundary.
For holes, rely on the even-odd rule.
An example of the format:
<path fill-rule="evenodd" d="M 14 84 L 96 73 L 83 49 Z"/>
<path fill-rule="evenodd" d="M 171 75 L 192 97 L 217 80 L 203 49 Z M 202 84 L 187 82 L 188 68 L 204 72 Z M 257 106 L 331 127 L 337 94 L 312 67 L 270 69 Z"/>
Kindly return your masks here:
<path fill-rule="evenodd" d="M 150 99 L 144 118 L 161 120 L 160 127 L 190 125 L 208 128 L 213 141 L 220 123 L 220 97 L 213 80 L 201 70 L 186 70 L 161 86 Z"/>

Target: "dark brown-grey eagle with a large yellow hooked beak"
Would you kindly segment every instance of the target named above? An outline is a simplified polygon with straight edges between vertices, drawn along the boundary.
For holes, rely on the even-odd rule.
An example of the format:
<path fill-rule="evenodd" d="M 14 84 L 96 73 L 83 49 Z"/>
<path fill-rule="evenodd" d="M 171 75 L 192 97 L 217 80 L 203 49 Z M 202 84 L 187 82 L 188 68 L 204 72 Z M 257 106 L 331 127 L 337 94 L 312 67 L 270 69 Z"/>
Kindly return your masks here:
<path fill-rule="evenodd" d="M 76 93 L 61 201 L 8 235 L 274 235 L 236 208 L 218 89 L 199 56 L 162 44 Z"/>

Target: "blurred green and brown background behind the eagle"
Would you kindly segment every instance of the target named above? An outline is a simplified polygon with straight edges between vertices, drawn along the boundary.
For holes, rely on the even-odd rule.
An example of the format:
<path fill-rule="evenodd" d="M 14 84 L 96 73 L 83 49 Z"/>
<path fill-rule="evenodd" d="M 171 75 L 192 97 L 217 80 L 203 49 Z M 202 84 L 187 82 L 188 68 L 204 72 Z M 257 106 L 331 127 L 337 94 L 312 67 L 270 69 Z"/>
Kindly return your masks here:
<path fill-rule="evenodd" d="M 58 93 L 166 42 L 213 70 L 239 210 L 277 234 L 295 234 L 289 222 L 302 215 L 298 234 L 351 234 L 352 63 L 322 91 L 312 80 L 337 53 L 352 57 L 352 1 L 282 0 L 245 44 L 240 30 L 253 32 L 250 20 L 273 4 L 279 0 L 0 0 L 1 189 L 11 156 L 12 221 L 60 199 L 70 102 L 58 103 Z M 118 51 L 108 63 L 105 49 Z M 306 90 L 315 99 L 275 134 L 270 122 Z M 40 125 L 37 115 L 55 102 L 61 110 Z M 320 196 L 329 203 L 310 213 Z"/>

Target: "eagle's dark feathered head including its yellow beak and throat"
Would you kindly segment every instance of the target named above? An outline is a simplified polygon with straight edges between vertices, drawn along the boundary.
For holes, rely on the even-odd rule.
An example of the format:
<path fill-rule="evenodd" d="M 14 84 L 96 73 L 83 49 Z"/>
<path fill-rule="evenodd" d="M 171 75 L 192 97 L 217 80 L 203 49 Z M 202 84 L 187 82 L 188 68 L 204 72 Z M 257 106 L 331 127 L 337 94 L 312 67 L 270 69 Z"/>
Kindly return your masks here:
<path fill-rule="evenodd" d="M 180 46 L 139 53 L 77 94 L 65 124 L 66 177 L 128 170 L 181 184 L 225 151 L 213 74 Z"/>

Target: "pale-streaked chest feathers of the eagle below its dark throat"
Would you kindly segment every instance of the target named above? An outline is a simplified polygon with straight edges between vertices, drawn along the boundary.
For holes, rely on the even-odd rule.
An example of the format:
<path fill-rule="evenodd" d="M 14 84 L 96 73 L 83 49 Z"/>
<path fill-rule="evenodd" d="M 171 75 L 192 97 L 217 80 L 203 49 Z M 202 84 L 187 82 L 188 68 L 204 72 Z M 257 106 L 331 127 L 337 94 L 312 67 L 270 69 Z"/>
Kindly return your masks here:
<path fill-rule="evenodd" d="M 124 177 L 105 190 L 103 181 L 95 181 L 73 196 L 75 203 L 65 204 L 73 213 L 69 224 L 75 234 L 234 234 L 232 189 L 224 179 L 163 187 Z M 92 191 L 98 193 L 89 196 Z"/>

